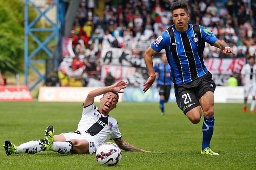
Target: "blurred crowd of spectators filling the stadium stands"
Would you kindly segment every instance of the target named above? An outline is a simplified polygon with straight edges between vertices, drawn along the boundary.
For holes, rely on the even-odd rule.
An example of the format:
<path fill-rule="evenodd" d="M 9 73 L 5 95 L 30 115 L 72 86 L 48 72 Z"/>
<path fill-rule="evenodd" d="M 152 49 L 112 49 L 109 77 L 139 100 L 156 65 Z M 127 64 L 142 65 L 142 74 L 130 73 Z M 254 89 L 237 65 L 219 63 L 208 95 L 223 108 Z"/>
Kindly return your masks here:
<path fill-rule="evenodd" d="M 103 48 L 125 49 L 128 41 L 152 43 L 170 27 L 170 6 L 175 0 L 105 0 L 102 15 L 94 12 L 96 0 L 82 0 L 69 38 L 75 57 L 66 56 L 72 70 L 82 77 L 81 86 L 87 86 L 88 77 L 100 80 L 100 55 Z M 186 0 L 190 23 L 200 24 L 212 31 L 218 39 L 232 47 L 236 55 L 223 55 L 218 48 L 206 43 L 204 58 L 256 56 L 256 1 L 252 0 Z M 132 51 L 142 57 L 143 51 Z M 60 86 L 68 86 L 68 76 L 60 64 Z M 56 74 L 55 74 L 56 76 Z M 79 76 L 78 76 L 79 77 Z M 236 75 L 239 78 L 239 74 Z M 64 82 L 62 82 L 64 80 Z"/>

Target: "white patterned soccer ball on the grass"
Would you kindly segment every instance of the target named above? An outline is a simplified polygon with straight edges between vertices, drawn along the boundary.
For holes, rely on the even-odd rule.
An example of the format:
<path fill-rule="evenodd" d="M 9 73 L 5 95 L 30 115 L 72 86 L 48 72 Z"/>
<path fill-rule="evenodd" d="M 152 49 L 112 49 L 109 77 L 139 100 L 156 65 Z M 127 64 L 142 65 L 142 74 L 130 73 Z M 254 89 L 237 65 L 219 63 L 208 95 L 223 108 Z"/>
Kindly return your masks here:
<path fill-rule="evenodd" d="M 102 166 L 116 166 L 121 158 L 121 149 L 111 142 L 102 144 L 96 151 L 96 159 Z"/>

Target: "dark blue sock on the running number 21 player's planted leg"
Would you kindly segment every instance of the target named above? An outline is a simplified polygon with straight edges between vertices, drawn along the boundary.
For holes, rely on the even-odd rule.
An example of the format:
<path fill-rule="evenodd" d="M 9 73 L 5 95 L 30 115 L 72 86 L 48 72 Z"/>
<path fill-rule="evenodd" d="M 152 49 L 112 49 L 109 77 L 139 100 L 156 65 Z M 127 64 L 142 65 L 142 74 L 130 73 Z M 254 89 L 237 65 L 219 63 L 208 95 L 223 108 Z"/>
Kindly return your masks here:
<path fill-rule="evenodd" d="M 210 147 L 210 141 L 212 139 L 213 128 L 214 128 L 214 116 L 212 118 L 204 117 L 204 123 L 202 127 L 203 131 L 203 142 L 202 142 L 202 150 L 207 147 Z"/>

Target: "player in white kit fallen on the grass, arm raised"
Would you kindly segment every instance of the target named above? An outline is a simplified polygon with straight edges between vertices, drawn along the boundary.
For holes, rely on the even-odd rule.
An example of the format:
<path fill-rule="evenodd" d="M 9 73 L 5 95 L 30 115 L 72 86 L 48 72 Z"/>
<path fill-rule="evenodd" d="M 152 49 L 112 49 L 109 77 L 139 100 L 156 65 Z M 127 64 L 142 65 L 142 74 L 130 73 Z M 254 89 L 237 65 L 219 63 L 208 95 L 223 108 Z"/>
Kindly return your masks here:
<path fill-rule="evenodd" d="M 111 86 L 92 90 L 84 101 L 82 118 L 75 132 L 53 136 L 54 129 L 50 125 L 47 127 L 45 139 L 30 141 L 18 147 L 6 140 L 3 146 L 6 155 L 19 153 L 34 154 L 42 150 L 52 150 L 57 153 L 92 154 L 104 143 L 108 135 L 110 135 L 110 139 L 113 139 L 120 149 L 148 152 L 124 141 L 118 129 L 116 119 L 108 115 L 112 109 L 116 108 L 119 98 L 118 93 L 123 93 L 122 89 L 126 88 L 126 85 L 127 82 L 119 81 Z M 101 105 L 98 108 L 93 104 L 94 98 L 102 94 L 103 96 L 100 99 Z"/>

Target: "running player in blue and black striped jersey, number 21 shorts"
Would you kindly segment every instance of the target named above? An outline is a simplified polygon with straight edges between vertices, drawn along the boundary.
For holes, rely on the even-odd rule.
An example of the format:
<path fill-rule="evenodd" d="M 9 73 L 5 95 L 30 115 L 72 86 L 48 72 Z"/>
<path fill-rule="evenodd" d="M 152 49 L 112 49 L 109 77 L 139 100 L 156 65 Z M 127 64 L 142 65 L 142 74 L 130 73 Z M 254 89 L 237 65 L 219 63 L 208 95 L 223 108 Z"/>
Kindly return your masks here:
<path fill-rule="evenodd" d="M 190 14 L 186 2 L 174 2 L 171 5 L 171 12 L 174 25 L 164 31 L 144 53 L 149 78 L 143 84 L 143 91 L 146 92 L 156 78 L 152 56 L 165 49 L 171 66 L 171 78 L 178 107 L 194 124 L 200 122 L 202 107 L 204 122 L 201 154 L 218 155 L 210 149 L 215 120 L 215 83 L 212 74 L 204 65 L 203 51 L 206 42 L 221 49 L 224 54 L 234 52 L 227 43 L 220 41 L 205 27 L 188 24 Z"/>

